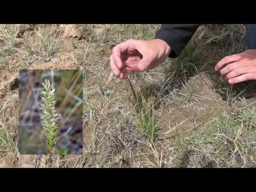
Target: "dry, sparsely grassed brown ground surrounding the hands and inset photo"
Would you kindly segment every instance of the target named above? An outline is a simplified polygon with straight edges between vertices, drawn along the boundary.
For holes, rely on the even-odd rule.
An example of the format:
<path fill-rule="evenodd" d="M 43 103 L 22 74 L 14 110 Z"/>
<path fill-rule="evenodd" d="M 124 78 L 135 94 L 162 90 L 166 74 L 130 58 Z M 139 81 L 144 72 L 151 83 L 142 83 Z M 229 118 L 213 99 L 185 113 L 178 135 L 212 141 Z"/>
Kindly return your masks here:
<path fill-rule="evenodd" d="M 129 82 L 111 75 L 109 56 L 118 43 L 152 39 L 158 28 L 1 25 L 0 167 L 255 167 L 255 83 L 230 86 L 213 70 L 245 50 L 245 25 L 203 25 L 179 58 L 130 74 L 154 108 L 152 140 L 141 131 L 147 122 L 134 113 Z M 51 68 L 84 71 L 81 156 L 19 154 L 18 69 Z"/>

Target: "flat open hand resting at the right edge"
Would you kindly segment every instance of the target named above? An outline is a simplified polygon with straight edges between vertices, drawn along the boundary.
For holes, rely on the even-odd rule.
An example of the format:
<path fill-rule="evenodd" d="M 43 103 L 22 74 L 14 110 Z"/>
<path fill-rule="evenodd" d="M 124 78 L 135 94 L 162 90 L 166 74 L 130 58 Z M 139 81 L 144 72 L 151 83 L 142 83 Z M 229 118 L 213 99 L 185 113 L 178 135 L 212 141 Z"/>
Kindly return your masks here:
<path fill-rule="evenodd" d="M 223 58 L 215 67 L 230 84 L 256 80 L 256 50 Z"/>

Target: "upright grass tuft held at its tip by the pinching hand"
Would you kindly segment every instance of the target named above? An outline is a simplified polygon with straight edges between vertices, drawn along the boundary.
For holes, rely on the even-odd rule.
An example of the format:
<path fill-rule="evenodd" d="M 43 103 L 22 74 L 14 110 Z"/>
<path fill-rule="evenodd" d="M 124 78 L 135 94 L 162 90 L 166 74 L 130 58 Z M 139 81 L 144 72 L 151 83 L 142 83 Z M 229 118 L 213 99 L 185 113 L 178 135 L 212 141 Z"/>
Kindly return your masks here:
<path fill-rule="evenodd" d="M 150 97 L 148 89 L 141 86 L 139 93 L 136 93 L 131 81 L 129 79 L 128 81 L 132 92 L 132 104 L 138 116 L 138 124 L 142 136 L 149 138 L 153 142 L 155 140 L 157 127 L 156 118 L 154 116 L 154 101 Z"/>

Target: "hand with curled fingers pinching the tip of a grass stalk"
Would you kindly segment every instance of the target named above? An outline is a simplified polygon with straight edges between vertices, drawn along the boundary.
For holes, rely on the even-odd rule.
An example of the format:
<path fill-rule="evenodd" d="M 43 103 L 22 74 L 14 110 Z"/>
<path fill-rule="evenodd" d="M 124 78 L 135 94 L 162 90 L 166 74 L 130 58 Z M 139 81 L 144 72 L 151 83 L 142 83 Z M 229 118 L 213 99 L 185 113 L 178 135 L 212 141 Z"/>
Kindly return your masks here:
<path fill-rule="evenodd" d="M 171 47 L 161 39 L 141 41 L 130 39 L 114 47 L 110 68 L 123 79 L 132 71 L 146 71 L 161 65 L 171 53 Z"/>

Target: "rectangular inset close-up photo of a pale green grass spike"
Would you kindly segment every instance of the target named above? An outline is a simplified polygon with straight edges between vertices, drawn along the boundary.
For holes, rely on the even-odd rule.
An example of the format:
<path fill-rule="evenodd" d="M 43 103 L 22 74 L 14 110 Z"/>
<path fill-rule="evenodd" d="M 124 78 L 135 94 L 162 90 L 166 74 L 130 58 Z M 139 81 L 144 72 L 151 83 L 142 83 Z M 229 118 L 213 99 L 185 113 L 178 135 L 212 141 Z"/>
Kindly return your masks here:
<path fill-rule="evenodd" d="M 82 70 L 19 70 L 20 154 L 83 153 Z"/>

